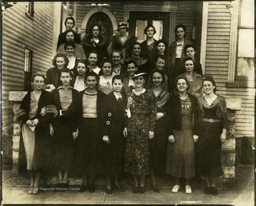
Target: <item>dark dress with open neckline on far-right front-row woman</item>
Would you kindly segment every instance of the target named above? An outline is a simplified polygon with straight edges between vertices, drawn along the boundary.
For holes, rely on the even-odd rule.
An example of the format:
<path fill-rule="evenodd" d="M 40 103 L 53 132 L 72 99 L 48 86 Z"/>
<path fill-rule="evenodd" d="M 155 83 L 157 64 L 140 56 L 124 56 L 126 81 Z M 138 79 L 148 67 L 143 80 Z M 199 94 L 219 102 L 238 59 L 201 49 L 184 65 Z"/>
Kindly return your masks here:
<path fill-rule="evenodd" d="M 223 129 L 228 128 L 228 115 L 225 99 L 217 96 L 211 105 L 205 97 L 198 98 L 200 117 L 218 121 L 200 121 L 199 139 L 196 145 L 196 167 L 198 174 L 210 177 L 223 175 L 220 163 L 221 140 Z"/>

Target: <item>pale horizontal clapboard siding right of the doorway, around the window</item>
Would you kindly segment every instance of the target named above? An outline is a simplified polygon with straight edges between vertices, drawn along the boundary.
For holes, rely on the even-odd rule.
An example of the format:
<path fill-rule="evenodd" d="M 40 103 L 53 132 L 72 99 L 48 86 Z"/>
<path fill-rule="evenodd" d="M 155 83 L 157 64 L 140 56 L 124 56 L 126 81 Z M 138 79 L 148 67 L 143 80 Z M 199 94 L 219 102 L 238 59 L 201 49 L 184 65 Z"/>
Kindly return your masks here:
<path fill-rule="evenodd" d="M 206 75 L 215 78 L 217 94 L 242 99 L 242 109 L 236 112 L 236 136 L 254 136 L 255 90 L 226 87 L 230 46 L 231 14 L 226 6 L 230 1 L 208 4 L 208 35 Z"/>

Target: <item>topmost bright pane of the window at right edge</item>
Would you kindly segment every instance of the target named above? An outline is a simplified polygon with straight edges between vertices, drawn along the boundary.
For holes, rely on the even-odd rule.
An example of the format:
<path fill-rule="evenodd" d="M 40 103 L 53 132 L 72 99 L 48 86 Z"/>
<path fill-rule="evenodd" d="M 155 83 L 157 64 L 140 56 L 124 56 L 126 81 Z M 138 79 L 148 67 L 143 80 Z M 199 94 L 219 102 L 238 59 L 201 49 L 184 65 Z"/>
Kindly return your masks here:
<path fill-rule="evenodd" d="M 255 26 L 254 0 L 242 0 L 240 26 Z"/>

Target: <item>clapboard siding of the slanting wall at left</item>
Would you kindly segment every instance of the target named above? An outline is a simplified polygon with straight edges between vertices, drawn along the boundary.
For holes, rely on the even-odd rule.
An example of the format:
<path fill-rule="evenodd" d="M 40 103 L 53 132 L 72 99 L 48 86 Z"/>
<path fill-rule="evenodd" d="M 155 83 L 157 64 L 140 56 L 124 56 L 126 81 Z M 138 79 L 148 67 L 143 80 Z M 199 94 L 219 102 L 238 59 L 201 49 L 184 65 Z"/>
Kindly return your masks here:
<path fill-rule="evenodd" d="M 33 19 L 26 16 L 26 2 L 18 2 L 2 11 L 2 132 L 12 128 L 13 104 L 10 91 L 23 90 L 24 48 L 33 50 L 32 73 L 51 66 L 53 36 L 53 3 L 35 2 Z"/>

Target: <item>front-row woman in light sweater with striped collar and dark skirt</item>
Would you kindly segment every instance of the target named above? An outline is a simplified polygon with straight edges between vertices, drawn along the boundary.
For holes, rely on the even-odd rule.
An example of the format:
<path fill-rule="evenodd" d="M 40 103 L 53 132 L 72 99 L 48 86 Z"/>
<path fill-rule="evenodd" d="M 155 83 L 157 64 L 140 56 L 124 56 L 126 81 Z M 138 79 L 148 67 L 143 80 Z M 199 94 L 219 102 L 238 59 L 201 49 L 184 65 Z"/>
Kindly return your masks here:
<path fill-rule="evenodd" d="M 89 189 L 95 192 L 95 174 L 102 170 L 102 108 L 105 94 L 97 90 L 99 75 L 95 72 L 85 73 L 87 88 L 80 92 L 79 101 L 79 135 L 77 140 L 76 166 L 83 175 L 80 193 Z"/>

